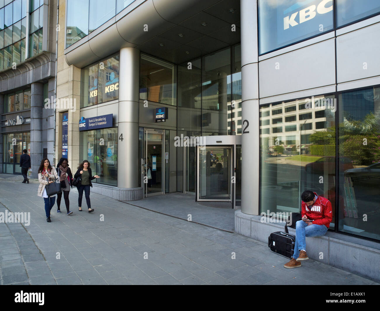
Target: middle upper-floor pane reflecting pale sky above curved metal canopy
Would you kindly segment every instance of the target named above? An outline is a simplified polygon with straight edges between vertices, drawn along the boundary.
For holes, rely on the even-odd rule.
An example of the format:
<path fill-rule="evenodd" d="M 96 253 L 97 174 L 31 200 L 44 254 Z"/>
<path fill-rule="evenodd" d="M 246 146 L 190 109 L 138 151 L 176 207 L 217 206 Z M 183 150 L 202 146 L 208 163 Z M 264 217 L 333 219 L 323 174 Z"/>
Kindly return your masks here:
<path fill-rule="evenodd" d="M 116 0 L 90 0 L 89 33 L 116 14 Z"/>

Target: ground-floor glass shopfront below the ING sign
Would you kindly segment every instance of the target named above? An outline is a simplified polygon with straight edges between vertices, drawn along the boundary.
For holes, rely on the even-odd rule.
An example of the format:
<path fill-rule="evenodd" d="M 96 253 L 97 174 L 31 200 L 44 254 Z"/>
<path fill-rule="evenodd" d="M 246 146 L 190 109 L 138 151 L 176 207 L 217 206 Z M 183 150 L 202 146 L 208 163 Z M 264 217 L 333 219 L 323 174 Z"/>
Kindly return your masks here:
<path fill-rule="evenodd" d="M 30 132 L 3 134 L 3 173 L 21 174 L 22 150 L 30 155 Z"/>

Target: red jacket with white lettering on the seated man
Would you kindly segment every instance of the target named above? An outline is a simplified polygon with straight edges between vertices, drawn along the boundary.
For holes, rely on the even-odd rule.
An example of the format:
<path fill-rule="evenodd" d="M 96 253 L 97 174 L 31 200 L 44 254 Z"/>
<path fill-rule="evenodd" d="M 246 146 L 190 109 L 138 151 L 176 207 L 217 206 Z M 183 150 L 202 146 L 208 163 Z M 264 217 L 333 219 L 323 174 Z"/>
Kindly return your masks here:
<path fill-rule="evenodd" d="M 314 192 L 316 196 L 317 193 Z M 325 197 L 318 196 L 315 200 L 313 206 L 307 206 L 305 202 L 302 201 L 302 217 L 306 215 L 307 218 L 312 220 L 313 224 L 330 226 L 332 220 L 332 207 L 331 202 Z"/>

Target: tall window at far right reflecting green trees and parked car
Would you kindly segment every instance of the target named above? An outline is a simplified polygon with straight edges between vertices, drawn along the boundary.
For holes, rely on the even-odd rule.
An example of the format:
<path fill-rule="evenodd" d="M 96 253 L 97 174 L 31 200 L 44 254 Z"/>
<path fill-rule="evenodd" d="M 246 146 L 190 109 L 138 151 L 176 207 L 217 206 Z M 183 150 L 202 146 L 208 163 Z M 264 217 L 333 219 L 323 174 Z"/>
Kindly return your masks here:
<path fill-rule="evenodd" d="M 339 230 L 380 239 L 380 88 L 342 93 L 339 107 Z"/>

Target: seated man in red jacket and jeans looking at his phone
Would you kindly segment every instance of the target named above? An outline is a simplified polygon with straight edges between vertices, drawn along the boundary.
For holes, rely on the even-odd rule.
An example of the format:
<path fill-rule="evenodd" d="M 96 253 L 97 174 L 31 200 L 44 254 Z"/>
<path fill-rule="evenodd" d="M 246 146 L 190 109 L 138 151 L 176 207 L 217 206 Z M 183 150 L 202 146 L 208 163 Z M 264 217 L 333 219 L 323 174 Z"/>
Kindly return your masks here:
<path fill-rule="evenodd" d="M 306 237 L 325 235 L 332 220 L 331 202 L 317 193 L 306 190 L 301 194 L 302 220 L 296 222 L 294 254 L 284 268 L 301 267 L 301 261 L 309 259 L 306 254 Z"/>

